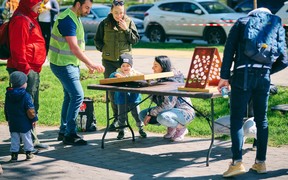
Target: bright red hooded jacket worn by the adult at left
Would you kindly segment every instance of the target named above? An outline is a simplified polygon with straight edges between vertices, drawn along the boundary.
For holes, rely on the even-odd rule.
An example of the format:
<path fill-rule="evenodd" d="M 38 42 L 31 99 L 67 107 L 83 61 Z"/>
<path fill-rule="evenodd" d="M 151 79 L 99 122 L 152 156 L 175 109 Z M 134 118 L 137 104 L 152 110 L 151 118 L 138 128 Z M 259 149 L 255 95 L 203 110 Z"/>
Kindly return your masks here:
<path fill-rule="evenodd" d="M 33 27 L 30 27 L 31 23 Z M 46 59 L 46 49 L 35 14 L 16 11 L 9 24 L 9 40 L 11 57 L 8 59 L 7 67 L 25 74 L 31 69 L 40 73 Z"/>

